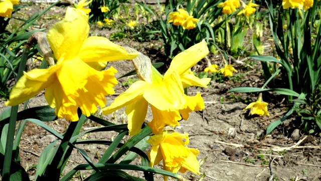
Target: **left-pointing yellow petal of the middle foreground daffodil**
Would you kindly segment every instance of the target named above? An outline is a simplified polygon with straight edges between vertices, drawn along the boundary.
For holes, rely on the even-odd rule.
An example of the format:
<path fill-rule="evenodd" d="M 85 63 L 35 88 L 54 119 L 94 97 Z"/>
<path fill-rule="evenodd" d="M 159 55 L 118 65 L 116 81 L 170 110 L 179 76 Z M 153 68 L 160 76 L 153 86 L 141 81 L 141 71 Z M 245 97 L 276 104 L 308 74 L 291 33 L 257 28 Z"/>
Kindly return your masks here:
<path fill-rule="evenodd" d="M 148 86 L 150 86 L 150 84 L 142 80 L 134 82 L 124 93 L 120 94 L 109 107 L 103 108 L 102 112 L 105 115 L 108 115 L 122 107 L 140 100 L 142 98 L 143 91 L 145 88 L 148 88 Z"/>

